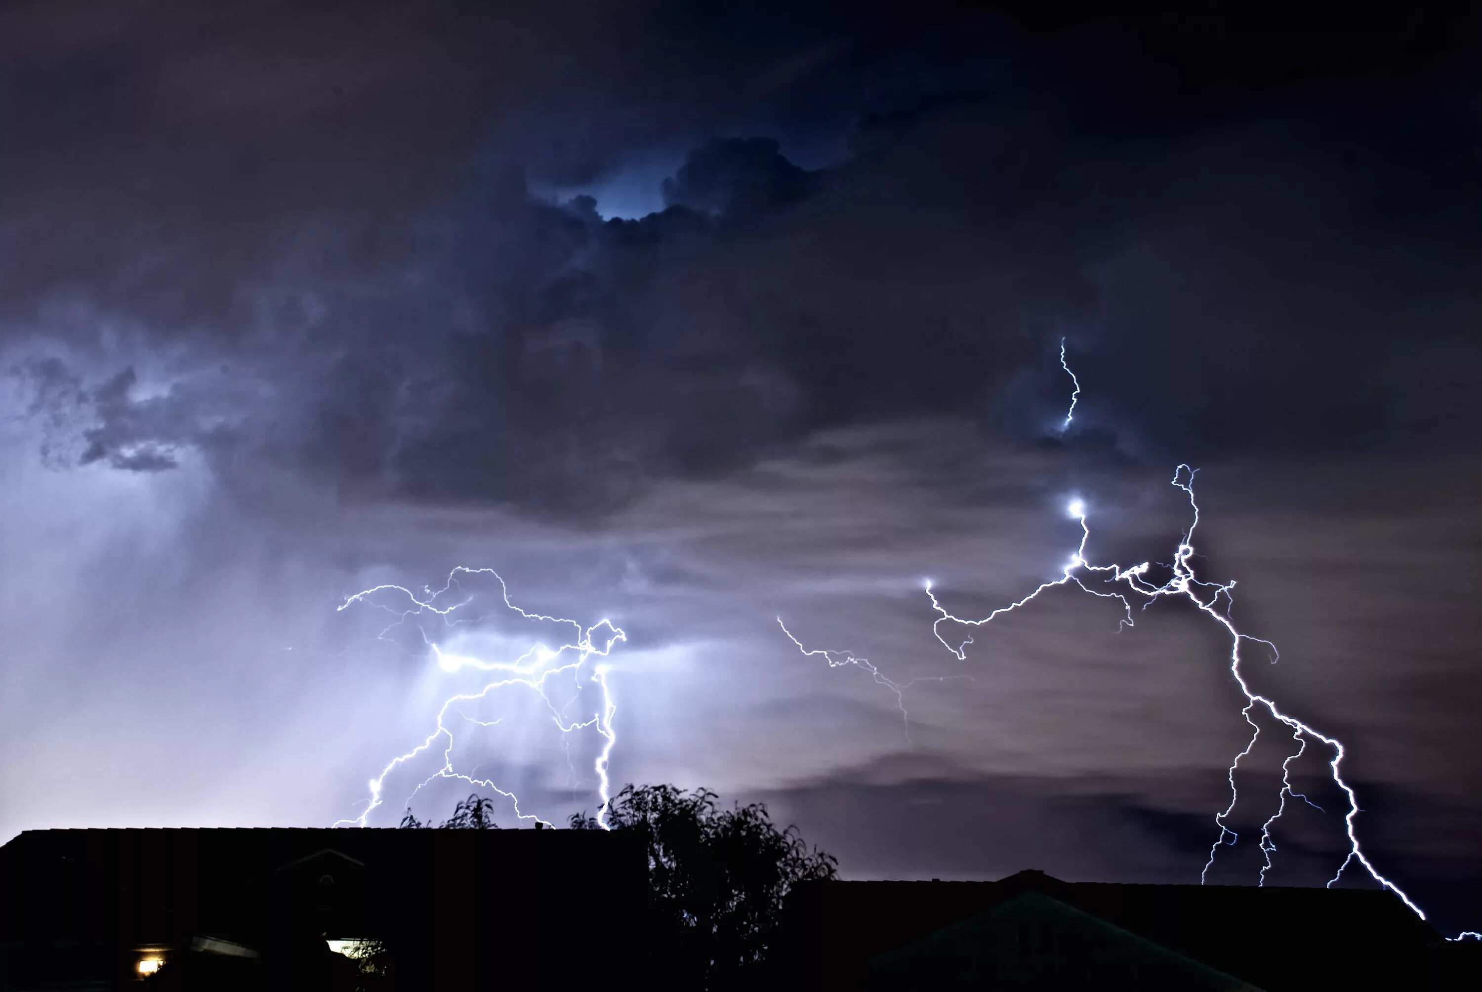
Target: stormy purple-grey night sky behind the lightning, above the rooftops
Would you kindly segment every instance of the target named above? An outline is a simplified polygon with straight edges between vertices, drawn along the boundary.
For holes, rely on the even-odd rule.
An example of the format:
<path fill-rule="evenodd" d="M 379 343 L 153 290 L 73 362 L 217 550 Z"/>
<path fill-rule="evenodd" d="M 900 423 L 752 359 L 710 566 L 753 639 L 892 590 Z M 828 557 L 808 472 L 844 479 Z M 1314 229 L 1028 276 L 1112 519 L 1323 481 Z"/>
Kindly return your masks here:
<path fill-rule="evenodd" d="M 1051 589 L 959 661 L 923 590 L 1060 577 L 1076 497 L 1089 559 L 1169 562 L 1189 463 L 1252 687 L 1479 928 L 1482 22 L 1183 6 L 4 4 L 0 841 L 357 817 L 488 681 L 431 644 L 559 636 L 489 577 L 336 609 L 467 565 L 627 633 L 618 784 L 765 799 L 846 878 L 1194 882 L 1249 737 L 1218 626 Z M 971 681 L 907 727 L 780 615 Z M 593 811 L 600 737 L 534 703 L 451 718 L 459 770 Z M 1257 879 L 1266 727 L 1212 882 Z M 1331 756 L 1273 884 L 1343 862 Z"/>

